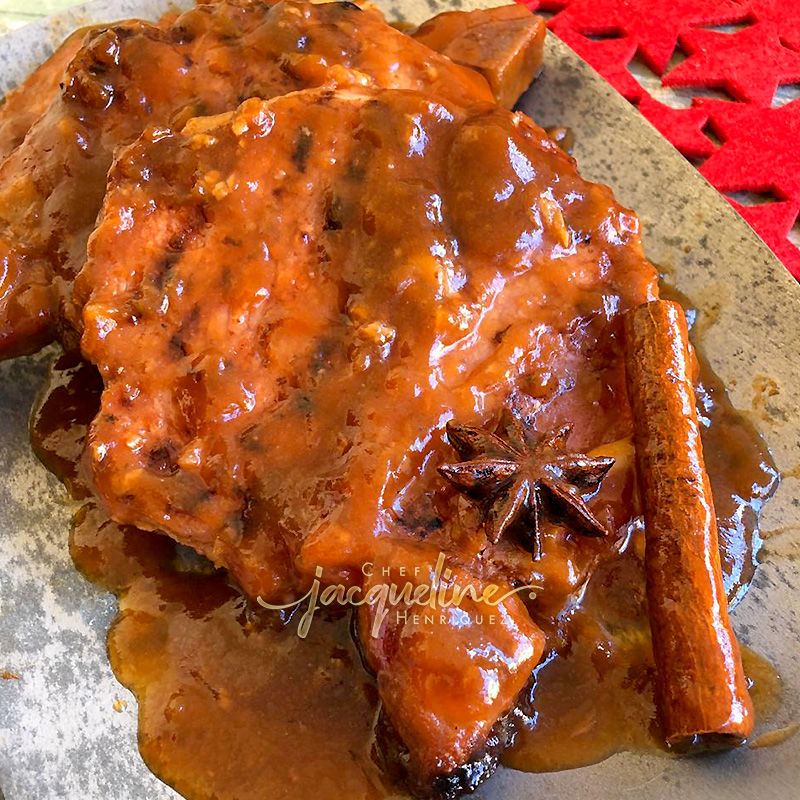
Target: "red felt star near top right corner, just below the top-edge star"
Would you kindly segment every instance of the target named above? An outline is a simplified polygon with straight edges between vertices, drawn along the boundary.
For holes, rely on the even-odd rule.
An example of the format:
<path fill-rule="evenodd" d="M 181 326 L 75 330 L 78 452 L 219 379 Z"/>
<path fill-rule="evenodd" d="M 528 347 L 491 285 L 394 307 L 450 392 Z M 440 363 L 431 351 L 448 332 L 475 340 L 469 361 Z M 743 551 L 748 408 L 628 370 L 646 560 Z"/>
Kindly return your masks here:
<path fill-rule="evenodd" d="M 689 58 L 664 76 L 664 86 L 723 87 L 737 100 L 768 106 L 779 84 L 800 80 L 800 53 L 784 47 L 772 25 L 687 31 L 680 44 Z"/>

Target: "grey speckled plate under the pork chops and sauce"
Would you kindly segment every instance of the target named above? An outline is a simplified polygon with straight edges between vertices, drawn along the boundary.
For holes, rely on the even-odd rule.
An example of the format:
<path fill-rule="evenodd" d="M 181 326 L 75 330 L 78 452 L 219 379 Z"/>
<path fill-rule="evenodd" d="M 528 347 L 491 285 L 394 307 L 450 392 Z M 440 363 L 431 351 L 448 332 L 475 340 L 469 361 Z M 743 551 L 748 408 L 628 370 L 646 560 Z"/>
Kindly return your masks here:
<path fill-rule="evenodd" d="M 473 3 L 481 4 L 379 0 L 389 16 L 413 22 Z M 78 25 L 152 18 L 167 5 L 102 0 L 0 39 L 0 90 Z M 753 415 L 785 475 L 763 517 L 765 563 L 734 621 L 785 683 L 783 708 L 768 728 L 790 726 L 800 721 L 800 289 L 695 170 L 553 37 L 546 64 L 522 108 L 540 124 L 572 128 L 584 176 L 610 184 L 639 212 L 650 258 L 699 308 L 712 366 L 736 405 Z M 177 798 L 139 757 L 135 701 L 108 666 L 105 635 L 115 602 L 72 566 L 70 507 L 28 445 L 28 411 L 45 361 L 40 355 L 0 365 L 0 673 L 19 675 L 0 680 L 0 800 Z M 121 713 L 117 699 L 128 701 Z M 714 758 L 620 754 L 563 773 L 500 770 L 479 796 L 796 800 L 800 736 Z"/>

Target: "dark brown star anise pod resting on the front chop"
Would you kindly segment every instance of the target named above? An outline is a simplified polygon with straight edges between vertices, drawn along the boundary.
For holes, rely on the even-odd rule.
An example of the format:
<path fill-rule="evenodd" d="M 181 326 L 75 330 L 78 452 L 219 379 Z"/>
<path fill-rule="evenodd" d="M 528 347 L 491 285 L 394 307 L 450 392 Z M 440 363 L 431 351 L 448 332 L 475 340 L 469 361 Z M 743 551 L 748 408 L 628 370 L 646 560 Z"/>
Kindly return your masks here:
<path fill-rule="evenodd" d="M 607 535 L 584 495 L 597 491 L 614 459 L 568 452 L 572 425 L 537 436 L 509 413 L 503 428 L 505 438 L 448 422 L 447 439 L 462 461 L 439 467 L 453 486 L 481 503 L 490 541 L 499 542 L 512 524 L 523 523 L 526 545 L 539 559 L 545 513 L 586 536 Z"/>

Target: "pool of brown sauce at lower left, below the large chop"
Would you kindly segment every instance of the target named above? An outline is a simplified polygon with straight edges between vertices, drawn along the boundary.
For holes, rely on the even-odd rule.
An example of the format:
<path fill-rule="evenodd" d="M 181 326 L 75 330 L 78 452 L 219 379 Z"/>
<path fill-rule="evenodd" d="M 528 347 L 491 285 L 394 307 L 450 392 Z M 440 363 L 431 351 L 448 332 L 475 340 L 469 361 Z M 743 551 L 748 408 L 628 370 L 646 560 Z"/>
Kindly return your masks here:
<path fill-rule="evenodd" d="M 377 692 L 347 619 L 316 619 L 300 639 L 254 618 L 223 576 L 184 571 L 171 540 L 91 504 L 72 553 L 120 593 L 109 656 L 138 698 L 139 746 L 162 780 L 191 798 L 386 796 L 370 757 Z"/>

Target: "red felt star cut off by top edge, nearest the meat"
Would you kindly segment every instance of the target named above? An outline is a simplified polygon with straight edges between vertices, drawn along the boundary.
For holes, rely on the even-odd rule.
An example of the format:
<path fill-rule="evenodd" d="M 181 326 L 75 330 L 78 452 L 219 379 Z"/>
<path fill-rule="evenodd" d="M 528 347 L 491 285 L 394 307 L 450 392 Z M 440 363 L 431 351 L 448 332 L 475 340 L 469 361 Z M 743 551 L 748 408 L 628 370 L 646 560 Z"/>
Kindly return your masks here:
<path fill-rule="evenodd" d="M 548 23 L 559 37 L 566 30 L 585 36 L 630 36 L 647 65 L 661 75 L 679 34 L 697 25 L 747 19 L 733 0 L 573 0 Z"/>

